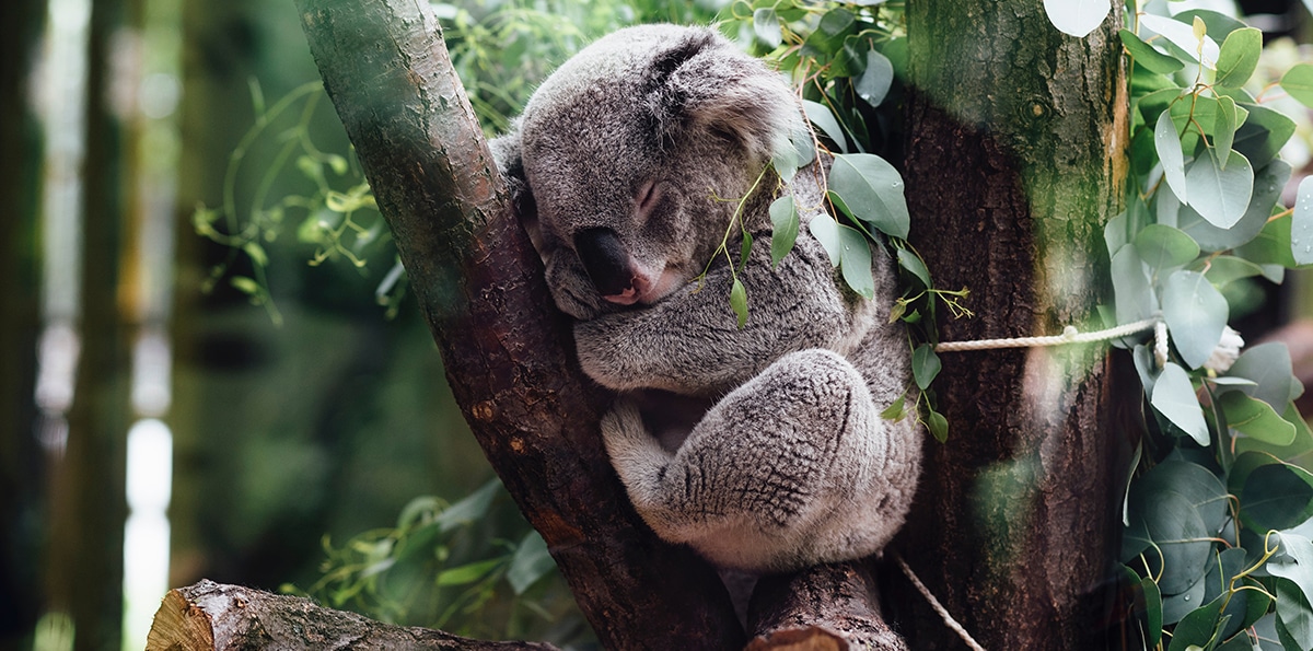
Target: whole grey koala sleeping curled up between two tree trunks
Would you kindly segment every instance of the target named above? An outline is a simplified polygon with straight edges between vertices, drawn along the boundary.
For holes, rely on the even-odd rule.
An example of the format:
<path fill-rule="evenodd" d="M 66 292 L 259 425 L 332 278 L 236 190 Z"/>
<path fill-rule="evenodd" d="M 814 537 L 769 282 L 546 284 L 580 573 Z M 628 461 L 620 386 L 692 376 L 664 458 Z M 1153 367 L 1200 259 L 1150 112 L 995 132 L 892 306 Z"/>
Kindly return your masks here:
<path fill-rule="evenodd" d="M 760 244 L 776 196 L 804 223 L 823 210 L 821 165 L 788 185 L 762 176 L 798 129 L 797 100 L 759 60 L 710 29 L 649 25 L 566 62 L 492 143 L 553 298 L 578 319 L 584 373 L 618 392 L 601 433 L 634 508 L 662 538 L 754 572 L 880 551 L 920 469 L 915 419 L 880 417 L 909 385 L 888 256 L 873 252 L 865 301 L 814 238 L 779 266 Z M 741 329 L 716 251 L 744 197 L 759 244 L 738 270 Z M 671 404 L 701 407 L 681 421 Z"/>

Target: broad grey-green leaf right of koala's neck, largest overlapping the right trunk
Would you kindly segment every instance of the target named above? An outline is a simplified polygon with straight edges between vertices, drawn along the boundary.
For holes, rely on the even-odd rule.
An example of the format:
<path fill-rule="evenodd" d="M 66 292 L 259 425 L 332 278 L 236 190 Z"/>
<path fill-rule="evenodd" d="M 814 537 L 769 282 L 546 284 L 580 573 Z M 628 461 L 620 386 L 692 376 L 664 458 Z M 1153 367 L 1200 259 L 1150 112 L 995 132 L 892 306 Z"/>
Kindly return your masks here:
<path fill-rule="evenodd" d="M 839 154 L 830 168 L 830 192 L 843 197 L 855 218 L 886 235 L 906 239 L 911 219 L 902 176 L 873 154 Z"/>

